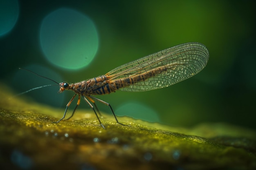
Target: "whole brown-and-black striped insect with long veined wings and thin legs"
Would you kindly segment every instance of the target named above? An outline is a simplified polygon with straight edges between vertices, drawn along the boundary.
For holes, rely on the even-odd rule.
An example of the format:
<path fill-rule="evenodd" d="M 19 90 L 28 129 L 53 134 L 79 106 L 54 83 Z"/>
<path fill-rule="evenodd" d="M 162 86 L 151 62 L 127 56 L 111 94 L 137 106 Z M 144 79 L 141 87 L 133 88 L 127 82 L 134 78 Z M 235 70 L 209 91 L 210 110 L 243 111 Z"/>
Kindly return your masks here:
<path fill-rule="evenodd" d="M 101 123 L 97 114 L 100 114 L 100 112 L 95 104 L 95 100 L 109 106 L 117 123 L 121 124 L 117 120 L 117 117 L 110 104 L 94 97 L 93 95 L 105 95 L 117 90 L 141 92 L 168 87 L 199 73 L 206 66 L 208 60 L 209 51 L 207 50 L 206 46 L 198 42 L 189 42 L 153 53 L 132 62 L 128 62 L 111 70 L 105 75 L 100 75 L 98 77 L 74 84 L 61 82 L 59 83 L 60 90 L 58 93 L 62 93 L 65 90 L 71 90 L 74 91 L 75 94 L 67 103 L 63 117 L 56 123 L 65 118 L 67 108 L 70 106 L 76 95 L 78 95 L 76 107 L 74 108 L 72 115 L 67 119 L 70 119 L 74 115 L 76 108 L 80 104 L 82 96 L 85 102 L 87 102 L 94 111 L 99 123 L 103 128 L 105 127 Z M 41 75 L 39 76 L 43 77 Z M 55 82 L 54 80 L 52 81 Z M 97 112 L 94 107 L 96 108 Z"/>

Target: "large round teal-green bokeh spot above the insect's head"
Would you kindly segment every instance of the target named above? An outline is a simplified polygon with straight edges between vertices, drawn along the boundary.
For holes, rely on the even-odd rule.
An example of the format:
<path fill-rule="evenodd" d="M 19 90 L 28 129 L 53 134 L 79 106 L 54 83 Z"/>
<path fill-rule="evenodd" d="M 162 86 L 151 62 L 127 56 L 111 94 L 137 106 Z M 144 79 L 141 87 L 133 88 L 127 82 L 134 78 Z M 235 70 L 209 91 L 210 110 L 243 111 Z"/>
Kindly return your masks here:
<path fill-rule="evenodd" d="M 50 63 L 73 70 L 90 64 L 99 46 L 92 20 L 68 8 L 57 9 L 43 19 L 40 44 Z"/>

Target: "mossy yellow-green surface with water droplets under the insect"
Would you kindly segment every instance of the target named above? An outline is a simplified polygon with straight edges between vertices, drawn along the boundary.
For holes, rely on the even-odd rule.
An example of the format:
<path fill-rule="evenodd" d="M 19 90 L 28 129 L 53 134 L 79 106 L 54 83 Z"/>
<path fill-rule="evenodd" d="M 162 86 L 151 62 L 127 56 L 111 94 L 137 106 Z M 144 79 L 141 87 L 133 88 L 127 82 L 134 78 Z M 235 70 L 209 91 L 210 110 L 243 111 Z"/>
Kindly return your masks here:
<path fill-rule="evenodd" d="M 1 85 L 4 86 L 3 84 Z M 6 89 L 6 88 L 4 88 Z M 0 169 L 256 169 L 256 132 L 227 124 L 193 128 L 63 110 L 0 91 Z"/>

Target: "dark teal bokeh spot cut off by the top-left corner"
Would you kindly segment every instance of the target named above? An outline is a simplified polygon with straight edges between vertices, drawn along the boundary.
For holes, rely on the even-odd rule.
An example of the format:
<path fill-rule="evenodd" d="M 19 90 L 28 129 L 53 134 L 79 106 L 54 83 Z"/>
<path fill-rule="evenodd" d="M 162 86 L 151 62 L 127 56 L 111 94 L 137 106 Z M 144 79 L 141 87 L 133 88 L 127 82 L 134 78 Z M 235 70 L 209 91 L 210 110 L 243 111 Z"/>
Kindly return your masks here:
<path fill-rule="evenodd" d="M 19 16 L 17 0 L 0 0 L 0 37 L 13 29 Z"/>

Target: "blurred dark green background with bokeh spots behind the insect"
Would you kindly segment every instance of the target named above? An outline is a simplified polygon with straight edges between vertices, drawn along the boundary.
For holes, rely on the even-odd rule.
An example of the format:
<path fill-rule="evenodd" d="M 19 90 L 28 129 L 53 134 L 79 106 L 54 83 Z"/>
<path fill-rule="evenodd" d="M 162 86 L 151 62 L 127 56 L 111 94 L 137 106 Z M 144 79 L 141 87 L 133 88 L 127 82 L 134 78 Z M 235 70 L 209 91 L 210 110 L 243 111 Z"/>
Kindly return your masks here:
<path fill-rule="evenodd" d="M 96 97 L 118 116 L 171 126 L 227 122 L 256 129 L 255 21 L 250 0 L 1 0 L 0 81 L 14 93 L 54 84 L 18 70 L 22 67 L 74 83 L 177 44 L 200 42 L 210 58 L 198 75 L 155 91 Z M 48 86 L 25 96 L 64 112 L 74 93 L 58 90 Z M 69 113 L 75 105 L 76 100 Z M 88 107 L 83 101 L 79 106 Z"/>

